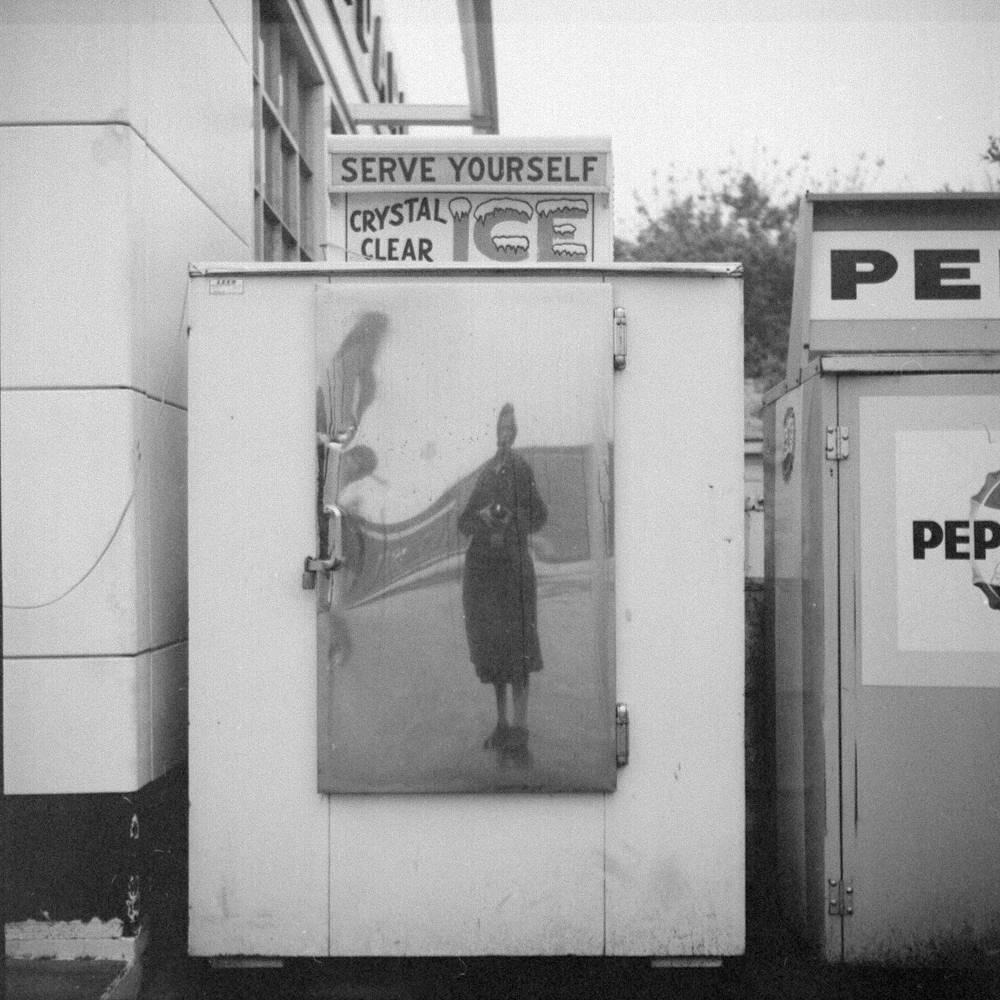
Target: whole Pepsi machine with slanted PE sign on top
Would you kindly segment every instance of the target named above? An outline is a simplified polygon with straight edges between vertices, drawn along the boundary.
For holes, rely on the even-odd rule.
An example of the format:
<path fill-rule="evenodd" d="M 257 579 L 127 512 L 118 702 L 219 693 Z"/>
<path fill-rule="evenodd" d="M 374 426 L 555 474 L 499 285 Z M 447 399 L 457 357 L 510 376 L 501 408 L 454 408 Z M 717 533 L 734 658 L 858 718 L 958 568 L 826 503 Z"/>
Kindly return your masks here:
<path fill-rule="evenodd" d="M 1000 197 L 811 196 L 766 398 L 779 884 L 830 959 L 1000 922 Z"/>

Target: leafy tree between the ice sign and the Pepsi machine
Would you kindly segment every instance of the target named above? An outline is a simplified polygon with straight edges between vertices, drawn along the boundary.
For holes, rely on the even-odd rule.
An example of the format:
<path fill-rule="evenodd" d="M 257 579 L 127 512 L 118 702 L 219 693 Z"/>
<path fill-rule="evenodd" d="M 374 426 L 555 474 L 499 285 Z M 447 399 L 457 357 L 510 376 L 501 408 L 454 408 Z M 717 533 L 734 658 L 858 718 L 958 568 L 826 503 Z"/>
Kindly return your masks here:
<path fill-rule="evenodd" d="M 693 184 L 671 174 L 664 193 L 654 189 L 659 207 L 637 197 L 635 238 L 615 241 L 618 260 L 742 263 L 744 374 L 766 385 L 785 374 L 800 193 L 862 190 L 871 180 L 864 156 L 849 174 L 834 170 L 819 183 L 808 161 L 783 172 L 773 160 L 756 171 L 734 164 L 700 172 Z M 880 170 L 882 162 L 871 166 Z"/>

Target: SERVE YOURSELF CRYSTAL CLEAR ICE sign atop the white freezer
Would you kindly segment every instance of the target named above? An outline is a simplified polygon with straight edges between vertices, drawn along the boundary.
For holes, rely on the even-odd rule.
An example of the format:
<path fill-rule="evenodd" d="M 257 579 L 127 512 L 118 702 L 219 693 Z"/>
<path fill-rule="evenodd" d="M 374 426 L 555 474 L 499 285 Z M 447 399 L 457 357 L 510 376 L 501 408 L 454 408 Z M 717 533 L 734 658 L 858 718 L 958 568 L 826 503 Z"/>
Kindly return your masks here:
<path fill-rule="evenodd" d="M 330 261 L 610 262 L 607 139 L 331 136 Z"/>

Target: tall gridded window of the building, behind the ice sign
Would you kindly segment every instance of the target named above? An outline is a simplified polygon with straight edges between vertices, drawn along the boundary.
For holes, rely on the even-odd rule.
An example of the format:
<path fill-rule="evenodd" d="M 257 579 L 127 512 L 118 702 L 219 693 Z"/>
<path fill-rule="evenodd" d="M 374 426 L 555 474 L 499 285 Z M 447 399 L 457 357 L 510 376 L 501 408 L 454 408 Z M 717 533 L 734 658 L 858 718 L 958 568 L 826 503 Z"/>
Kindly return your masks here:
<path fill-rule="evenodd" d="M 254 237 L 258 260 L 319 260 L 323 78 L 287 3 L 254 0 Z"/>

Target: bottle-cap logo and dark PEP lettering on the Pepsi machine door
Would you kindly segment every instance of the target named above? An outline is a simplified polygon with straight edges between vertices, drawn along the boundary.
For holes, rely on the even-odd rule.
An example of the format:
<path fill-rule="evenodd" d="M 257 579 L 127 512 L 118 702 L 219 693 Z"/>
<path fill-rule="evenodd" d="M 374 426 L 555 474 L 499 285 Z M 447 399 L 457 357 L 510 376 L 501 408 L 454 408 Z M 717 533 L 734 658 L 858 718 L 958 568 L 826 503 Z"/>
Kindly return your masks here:
<path fill-rule="evenodd" d="M 986 476 L 971 499 L 968 520 L 913 521 L 913 558 L 936 553 L 972 564 L 972 583 L 1000 611 L 1000 470 Z"/>

